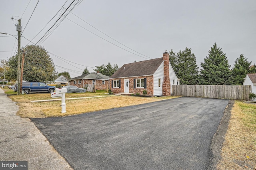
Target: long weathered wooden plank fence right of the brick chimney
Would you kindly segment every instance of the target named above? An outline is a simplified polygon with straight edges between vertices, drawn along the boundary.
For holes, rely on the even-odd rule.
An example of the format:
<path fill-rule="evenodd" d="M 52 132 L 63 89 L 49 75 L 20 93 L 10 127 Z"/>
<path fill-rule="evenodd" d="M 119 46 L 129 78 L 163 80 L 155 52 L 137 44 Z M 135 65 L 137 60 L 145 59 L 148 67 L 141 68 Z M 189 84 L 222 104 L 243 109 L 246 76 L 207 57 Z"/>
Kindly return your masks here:
<path fill-rule="evenodd" d="M 252 86 L 226 85 L 172 85 L 172 94 L 178 96 L 249 100 Z"/>

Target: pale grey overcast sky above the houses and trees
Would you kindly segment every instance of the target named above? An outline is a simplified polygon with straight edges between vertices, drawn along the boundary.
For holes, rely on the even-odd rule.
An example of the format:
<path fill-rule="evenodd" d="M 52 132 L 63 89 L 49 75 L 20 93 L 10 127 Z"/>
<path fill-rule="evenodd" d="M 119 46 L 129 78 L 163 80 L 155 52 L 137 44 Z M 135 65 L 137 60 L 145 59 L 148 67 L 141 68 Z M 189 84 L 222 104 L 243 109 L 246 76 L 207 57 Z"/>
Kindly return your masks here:
<path fill-rule="evenodd" d="M 37 2 L 1 0 L 0 32 L 16 36 L 15 24 L 21 18 L 21 46 L 32 44 L 28 40 L 37 43 L 73 0 Z M 95 66 L 110 62 L 120 68 L 126 63 L 160 58 L 165 50 L 178 52 L 186 47 L 191 48 L 200 66 L 215 42 L 226 53 L 230 65 L 240 54 L 256 64 L 256 0 L 76 2 L 80 4 L 71 11 L 73 14 L 69 13 L 40 44 L 62 58 L 49 53 L 56 70 L 68 71 L 71 77 L 80 76 L 86 67 L 94 72 Z M 12 21 L 12 17 L 16 20 Z M 0 59 L 8 59 L 17 52 L 18 42 L 12 36 L 3 36 L 0 34 Z"/>

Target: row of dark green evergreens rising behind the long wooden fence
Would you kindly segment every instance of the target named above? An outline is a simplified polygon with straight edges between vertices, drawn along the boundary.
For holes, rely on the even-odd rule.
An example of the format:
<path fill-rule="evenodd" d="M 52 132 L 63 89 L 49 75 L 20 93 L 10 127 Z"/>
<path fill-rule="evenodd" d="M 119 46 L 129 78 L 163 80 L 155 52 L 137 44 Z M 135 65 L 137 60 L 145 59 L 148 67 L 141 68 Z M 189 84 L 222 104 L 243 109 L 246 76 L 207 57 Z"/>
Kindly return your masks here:
<path fill-rule="evenodd" d="M 222 48 L 216 43 L 208 51 L 208 56 L 201 62 L 201 70 L 198 70 L 196 57 L 190 48 L 174 53 L 169 52 L 170 63 L 176 76 L 181 79 L 180 84 L 208 84 L 208 85 L 242 85 L 248 73 L 256 73 L 255 64 L 248 61 L 241 54 L 230 69 L 228 58 Z"/>

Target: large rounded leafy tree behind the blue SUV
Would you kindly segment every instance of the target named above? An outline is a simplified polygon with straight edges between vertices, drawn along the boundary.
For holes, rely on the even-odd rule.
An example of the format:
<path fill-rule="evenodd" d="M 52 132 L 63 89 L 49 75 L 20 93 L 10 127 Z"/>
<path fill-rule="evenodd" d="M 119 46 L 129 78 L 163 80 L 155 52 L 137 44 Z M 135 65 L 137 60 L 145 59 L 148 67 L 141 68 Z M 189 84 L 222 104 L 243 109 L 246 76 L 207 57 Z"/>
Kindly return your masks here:
<path fill-rule="evenodd" d="M 25 51 L 23 80 L 34 82 L 53 82 L 56 78 L 54 63 L 48 51 L 38 45 L 28 45 L 22 48 Z M 18 54 L 8 59 L 8 77 L 17 80 Z"/>

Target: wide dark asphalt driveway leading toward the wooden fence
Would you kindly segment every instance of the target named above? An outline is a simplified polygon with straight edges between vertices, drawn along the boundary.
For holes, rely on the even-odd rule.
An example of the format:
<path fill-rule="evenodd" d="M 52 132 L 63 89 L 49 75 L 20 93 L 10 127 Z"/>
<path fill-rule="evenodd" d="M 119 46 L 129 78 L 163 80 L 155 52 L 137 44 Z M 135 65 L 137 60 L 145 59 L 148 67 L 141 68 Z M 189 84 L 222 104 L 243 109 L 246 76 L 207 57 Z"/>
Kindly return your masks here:
<path fill-rule="evenodd" d="M 206 170 L 227 104 L 183 97 L 31 120 L 76 170 Z"/>

